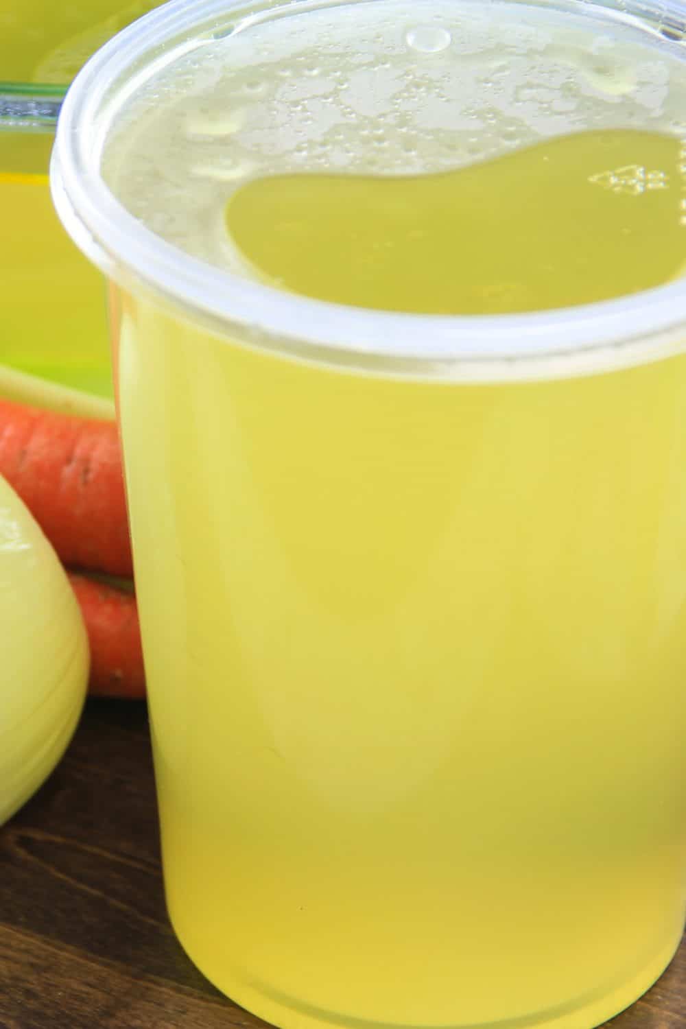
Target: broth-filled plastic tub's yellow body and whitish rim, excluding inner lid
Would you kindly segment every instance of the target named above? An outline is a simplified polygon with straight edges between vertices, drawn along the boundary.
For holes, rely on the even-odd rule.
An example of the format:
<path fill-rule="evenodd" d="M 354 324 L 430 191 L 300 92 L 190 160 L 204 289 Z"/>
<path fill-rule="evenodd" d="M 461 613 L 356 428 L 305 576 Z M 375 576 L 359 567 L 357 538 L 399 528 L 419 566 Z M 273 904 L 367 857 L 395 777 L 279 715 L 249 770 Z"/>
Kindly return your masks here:
<path fill-rule="evenodd" d="M 361 48 L 381 2 L 342 5 Z M 589 1029 L 684 926 L 683 284 L 347 309 L 186 256 L 101 175 L 175 56 L 339 6 L 171 3 L 58 132 L 58 210 L 117 299 L 169 912 L 286 1029 Z M 681 4 L 622 11 L 684 35 Z"/>

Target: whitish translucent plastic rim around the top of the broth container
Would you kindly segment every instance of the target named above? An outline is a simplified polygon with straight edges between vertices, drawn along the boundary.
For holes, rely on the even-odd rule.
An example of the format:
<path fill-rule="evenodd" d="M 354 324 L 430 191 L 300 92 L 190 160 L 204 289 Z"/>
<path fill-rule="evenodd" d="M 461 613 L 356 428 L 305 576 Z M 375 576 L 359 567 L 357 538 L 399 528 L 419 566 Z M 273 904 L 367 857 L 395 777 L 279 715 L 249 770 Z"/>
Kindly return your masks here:
<path fill-rule="evenodd" d="M 599 304 L 514 315 L 413 315 L 347 308 L 284 292 L 190 257 L 155 236 L 119 204 L 100 175 L 107 132 L 132 93 L 184 52 L 265 16 L 333 7 L 346 0 L 171 0 L 110 39 L 83 66 L 62 105 L 50 167 L 52 197 L 67 230 L 111 278 L 140 283 L 190 318 L 224 332 L 237 326 L 286 353 L 344 363 L 381 361 L 389 370 L 536 375 L 539 364 L 617 367 L 686 347 L 686 280 Z M 374 3 L 383 0 L 348 0 Z M 463 0 L 470 2 L 470 0 Z M 526 6 L 547 0 L 516 0 Z M 587 0 L 556 6 L 588 12 Z M 613 0 L 599 4 L 625 21 Z M 637 4 L 671 25 L 686 25 L 686 5 Z M 622 5 L 630 10 L 631 3 Z M 237 15 L 241 21 L 236 23 Z M 654 26 L 644 24 L 654 34 Z M 682 49 L 673 36 L 664 45 Z M 354 341 L 354 344 L 351 344 Z M 500 371 L 496 365 L 500 366 Z M 517 365 L 517 368 L 514 366 Z M 523 365 L 518 367 L 519 365 Z M 503 370 L 503 369 L 509 370 Z M 549 369 L 548 369 L 549 370 Z"/>

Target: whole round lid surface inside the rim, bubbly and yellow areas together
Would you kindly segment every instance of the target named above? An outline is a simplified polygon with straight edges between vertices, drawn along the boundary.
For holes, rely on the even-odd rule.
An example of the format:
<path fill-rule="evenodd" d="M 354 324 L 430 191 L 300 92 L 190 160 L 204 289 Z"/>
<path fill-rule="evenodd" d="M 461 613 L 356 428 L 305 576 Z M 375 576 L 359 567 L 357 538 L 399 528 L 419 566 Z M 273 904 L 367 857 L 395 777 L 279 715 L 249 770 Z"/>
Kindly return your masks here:
<path fill-rule="evenodd" d="M 420 9 L 238 13 L 141 87 L 107 181 L 192 256 L 371 308 L 532 311 L 676 275 L 681 48 L 590 5 Z"/>

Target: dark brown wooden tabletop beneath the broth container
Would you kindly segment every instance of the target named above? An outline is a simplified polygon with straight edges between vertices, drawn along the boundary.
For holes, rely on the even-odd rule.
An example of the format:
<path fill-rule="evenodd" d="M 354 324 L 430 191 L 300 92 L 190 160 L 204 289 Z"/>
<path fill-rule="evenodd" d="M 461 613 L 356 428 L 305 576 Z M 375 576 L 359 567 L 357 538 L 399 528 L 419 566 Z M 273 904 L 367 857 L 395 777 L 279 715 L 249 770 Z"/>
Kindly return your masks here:
<path fill-rule="evenodd" d="M 89 701 L 65 759 L 0 828 L 1 1029 L 257 1029 L 167 921 L 145 705 Z M 685 1029 L 686 942 L 614 1029 Z"/>

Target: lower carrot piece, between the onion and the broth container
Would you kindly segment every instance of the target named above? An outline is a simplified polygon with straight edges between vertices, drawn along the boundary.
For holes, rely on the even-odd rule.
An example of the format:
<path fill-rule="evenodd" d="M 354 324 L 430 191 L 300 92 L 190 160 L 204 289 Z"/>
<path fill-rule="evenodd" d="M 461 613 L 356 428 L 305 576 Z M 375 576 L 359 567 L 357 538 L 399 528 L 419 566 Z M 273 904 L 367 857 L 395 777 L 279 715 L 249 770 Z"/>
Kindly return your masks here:
<path fill-rule="evenodd" d="M 68 572 L 91 645 L 92 697 L 145 697 L 145 673 L 136 597 Z"/>

